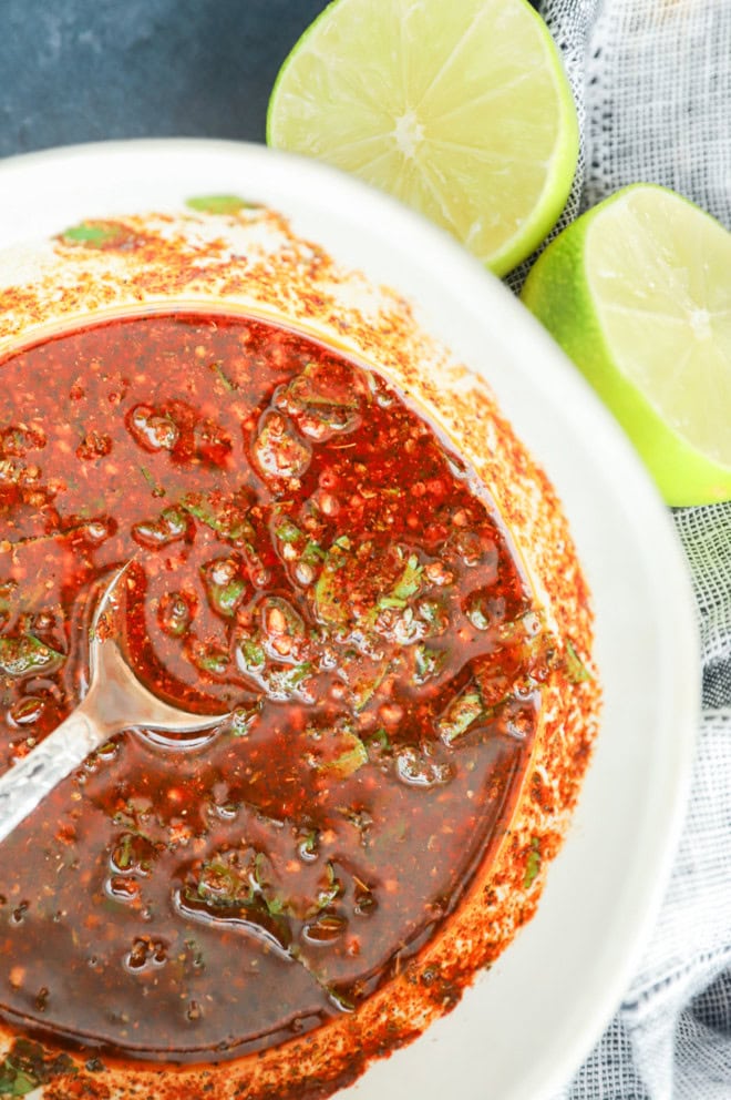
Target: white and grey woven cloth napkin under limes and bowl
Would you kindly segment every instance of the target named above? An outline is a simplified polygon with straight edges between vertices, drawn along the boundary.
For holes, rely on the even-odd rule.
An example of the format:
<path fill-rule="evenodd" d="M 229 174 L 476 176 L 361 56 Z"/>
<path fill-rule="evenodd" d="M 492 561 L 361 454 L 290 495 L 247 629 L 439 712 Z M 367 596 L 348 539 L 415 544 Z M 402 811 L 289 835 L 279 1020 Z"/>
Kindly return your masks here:
<path fill-rule="evenodd" d="M 731 0 L 544 0 L 540 11 L 583 134 L 562 224 L 647 181 L 731 228 Z M 690 807 L 639 970 L 556 1100 L 731 1100 L 731 503 L 676 509 L 675 521 L 703 659 Z"/>

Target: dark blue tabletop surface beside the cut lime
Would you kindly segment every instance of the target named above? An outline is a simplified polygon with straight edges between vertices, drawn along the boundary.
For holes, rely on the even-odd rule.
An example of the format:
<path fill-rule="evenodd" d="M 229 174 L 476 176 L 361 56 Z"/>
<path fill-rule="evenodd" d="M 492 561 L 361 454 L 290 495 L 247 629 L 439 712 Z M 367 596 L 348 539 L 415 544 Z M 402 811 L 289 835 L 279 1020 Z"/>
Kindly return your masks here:
<path fill-rule="evenodd" d="M 0 155 L 107 138 L 264 141 L 326 0 L 0 0 Z"/>

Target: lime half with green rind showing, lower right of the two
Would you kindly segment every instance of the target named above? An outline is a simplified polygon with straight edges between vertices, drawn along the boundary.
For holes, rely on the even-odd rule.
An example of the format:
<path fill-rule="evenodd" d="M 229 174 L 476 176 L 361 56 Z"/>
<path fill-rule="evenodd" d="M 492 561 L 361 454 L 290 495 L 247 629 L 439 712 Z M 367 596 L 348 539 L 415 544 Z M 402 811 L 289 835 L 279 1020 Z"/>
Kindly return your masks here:
<path fill-rule="evenodd" d="M 523 301 L 669 505 L 731 498 L 731 233 L 675 192 L 636 184 L 548 245 Z"/>

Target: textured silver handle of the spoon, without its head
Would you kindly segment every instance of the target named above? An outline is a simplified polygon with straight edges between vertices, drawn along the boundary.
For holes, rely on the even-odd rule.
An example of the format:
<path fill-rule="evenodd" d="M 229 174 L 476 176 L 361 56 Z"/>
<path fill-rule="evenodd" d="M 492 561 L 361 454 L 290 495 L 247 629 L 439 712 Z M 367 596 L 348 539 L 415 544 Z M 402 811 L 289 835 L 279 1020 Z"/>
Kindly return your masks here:
<path fill-rule="evenodd" d="M 44 741 L 0 777 L 0 841 L 109 737 L 78 707 Z"/>

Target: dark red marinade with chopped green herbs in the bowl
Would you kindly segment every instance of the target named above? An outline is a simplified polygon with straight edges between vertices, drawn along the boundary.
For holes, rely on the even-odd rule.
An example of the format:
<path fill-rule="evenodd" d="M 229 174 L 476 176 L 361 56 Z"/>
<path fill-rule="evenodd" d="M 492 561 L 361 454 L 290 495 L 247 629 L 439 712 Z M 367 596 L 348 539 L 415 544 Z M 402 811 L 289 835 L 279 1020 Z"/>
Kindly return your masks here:
<path fill-rule="evenodd" d="M 549 663 L 496 510 L 378 374 L 245 317 L 154 315 L 8 357 L 0 748 L 79 702 L 134 556 L 128 656 L 230 716 L 93 754 L 0 845 L 0 1017 L 218 1061 L 399 972 L 500 841 Z"/>

